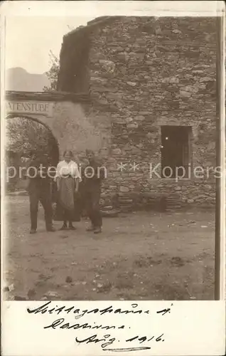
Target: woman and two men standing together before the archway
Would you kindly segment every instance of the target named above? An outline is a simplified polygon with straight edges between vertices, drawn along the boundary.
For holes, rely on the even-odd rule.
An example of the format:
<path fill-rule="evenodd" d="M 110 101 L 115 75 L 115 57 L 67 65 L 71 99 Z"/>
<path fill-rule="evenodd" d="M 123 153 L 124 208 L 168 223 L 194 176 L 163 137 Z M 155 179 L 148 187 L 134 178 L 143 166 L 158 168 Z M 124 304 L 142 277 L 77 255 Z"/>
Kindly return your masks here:
<path fill-rule="evenodd" d="M 93 231 L 95 234 L 102 231 L 99 199 L 104 174 L 101 169 L 98 169 L 99 164 L 94 152 L 87 150 L 86 154 L 89 163 L 80 172 L 72 151 L 65 151 L 63 160 L 58 163 L 55 172 L 53 172 L 54 177 L 49 170 L 48 157 L 33 155 L 29 164 L 27 188 L 30 199 L 31 234 L 35 234 L 37 230 L 39 202 L 45 211 L 46 231 L 55 231 L 53 220 L 63 222 L 60 230 L 75 230 L 73 223 L 80 221 L 84 210 L 91 223 L 87 231 Z M 33 174 L 32 169 L 34 170 Z M 55 209 L 52 206 L 54 185 L 56 191 Z"/>

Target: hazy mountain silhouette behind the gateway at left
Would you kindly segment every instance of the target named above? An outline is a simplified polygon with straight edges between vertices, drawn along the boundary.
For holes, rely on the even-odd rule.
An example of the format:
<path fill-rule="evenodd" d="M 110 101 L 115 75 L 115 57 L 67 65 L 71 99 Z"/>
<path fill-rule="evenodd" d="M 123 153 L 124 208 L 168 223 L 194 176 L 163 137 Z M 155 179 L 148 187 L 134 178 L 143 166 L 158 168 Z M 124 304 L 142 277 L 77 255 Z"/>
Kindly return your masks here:
<path fill-rule="evenodd" d="M 23 68 L 10 68 L 6 70 L 6 90 L 12 91 L 43 91 L 49 86 L 50 80 L 43 74 L 31 74 Z"/>

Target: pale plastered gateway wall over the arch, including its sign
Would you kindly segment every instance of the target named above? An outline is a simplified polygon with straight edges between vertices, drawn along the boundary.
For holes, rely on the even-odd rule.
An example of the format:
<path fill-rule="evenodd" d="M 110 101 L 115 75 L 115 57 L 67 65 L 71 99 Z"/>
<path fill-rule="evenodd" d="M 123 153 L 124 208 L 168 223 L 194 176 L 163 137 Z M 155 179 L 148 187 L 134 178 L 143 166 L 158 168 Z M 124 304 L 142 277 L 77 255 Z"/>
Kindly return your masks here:
<path fill-rule="evenodd" d="M 11 115 L 31 117 L 42 122 L 58 141 L 60 158 L 62 158 L 65 150 L 72 150 L 75 155 L 77 152 L 84 151 L 87 137 L 90 146 L 90 136 L 94 136 L 95 125 L 92 119 L 86 116 L 86 112 L 90 110 L 89 103 L 90 99 L 84 94 L 8 91 L 5 95 L 4 117 L 11 117 Z M 91 127 L 92 135 L 87 135 L 87 126 L 88 129 Z M 86 137 L 81 138 L 83 132 L 86 134 L 83 136 Z M 99 135 L 96 136 L 99 140 Z"/>

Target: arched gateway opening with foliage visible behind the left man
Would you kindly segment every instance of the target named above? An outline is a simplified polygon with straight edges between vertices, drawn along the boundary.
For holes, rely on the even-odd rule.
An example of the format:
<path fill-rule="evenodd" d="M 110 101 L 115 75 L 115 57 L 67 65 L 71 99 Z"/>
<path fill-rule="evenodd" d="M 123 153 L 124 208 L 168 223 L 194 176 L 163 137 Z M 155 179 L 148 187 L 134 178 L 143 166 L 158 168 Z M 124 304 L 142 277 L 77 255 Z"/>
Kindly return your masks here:
<path fill-rule="evenodd" d="M 15 167 L 16 176 L 9 174 L 6 182 L 9 190 L 23 189 L 26 186 L 26 169 L 19 174 L 18 167 L 26 168 L 33 153 L 48 155 L 50 164 L 54 167 L 59 161 L 59 147 L 50 127 L 28 115 L 9 114 L 6 116 L 6 167 Z M 12 168 L 11 168 L 12 169 Z M 11 176 L 14 177 L 11 177 Z"/>

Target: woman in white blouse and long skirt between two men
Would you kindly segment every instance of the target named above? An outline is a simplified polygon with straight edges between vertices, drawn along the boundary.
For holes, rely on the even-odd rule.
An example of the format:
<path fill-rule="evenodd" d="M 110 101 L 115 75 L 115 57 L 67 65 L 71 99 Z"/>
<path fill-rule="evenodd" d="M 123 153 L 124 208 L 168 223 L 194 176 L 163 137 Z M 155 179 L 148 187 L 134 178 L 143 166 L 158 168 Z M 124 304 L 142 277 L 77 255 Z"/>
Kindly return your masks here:
<path fill-rule="evenodd" d="M 55 182 L 58 188 L 58 198 L 55 220 L 63 221 L 61 230 L 74 230 L 74 221 L 80 221 L 80 206 L 77 204 L 77 192 L 81 182 L 77 163 L 73 160 L 72 151 L 65 151 L 64 160 L 58 163 Z"/>

